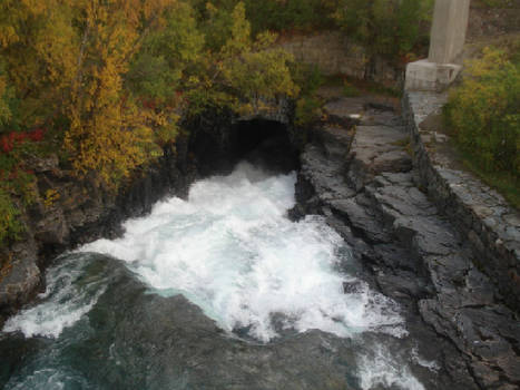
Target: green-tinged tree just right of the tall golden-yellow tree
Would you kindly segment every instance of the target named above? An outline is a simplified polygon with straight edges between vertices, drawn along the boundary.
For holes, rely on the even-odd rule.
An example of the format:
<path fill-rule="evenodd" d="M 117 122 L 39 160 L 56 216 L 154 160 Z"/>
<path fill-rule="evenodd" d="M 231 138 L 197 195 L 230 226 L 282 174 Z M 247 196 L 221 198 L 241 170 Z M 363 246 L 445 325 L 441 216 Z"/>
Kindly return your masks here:
<path fill-rule="evenodd" d="M 164 145 L 178 133 L 186 80 L 200 71 L 205 39 L 188 3 L 173 3 L 131 59 L 125 82 Z"/>

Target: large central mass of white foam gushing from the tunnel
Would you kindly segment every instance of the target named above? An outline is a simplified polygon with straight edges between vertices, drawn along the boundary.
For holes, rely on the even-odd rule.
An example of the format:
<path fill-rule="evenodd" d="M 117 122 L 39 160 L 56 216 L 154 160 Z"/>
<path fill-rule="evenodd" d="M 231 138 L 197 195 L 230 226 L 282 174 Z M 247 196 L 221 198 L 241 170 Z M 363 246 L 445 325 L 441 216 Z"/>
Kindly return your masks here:
<path fill-rule="evenodd" d="M 321 217 L 292 223 L 295 175 L 266 177 L 243 164 L 229 176 L 196 183 L 188 201 L 170 198 L 125 224 L 119 240 L 81 251 L 125 260 L 161 293 L 184 293 L 226 329 L 248 326 L 268 341 L 285 328 L 341 337 L 364 330 L 405 334 L 395 304 L 336 271 L 342 238 Z M 343 259 L 344 261 L 345 259 Z"/>

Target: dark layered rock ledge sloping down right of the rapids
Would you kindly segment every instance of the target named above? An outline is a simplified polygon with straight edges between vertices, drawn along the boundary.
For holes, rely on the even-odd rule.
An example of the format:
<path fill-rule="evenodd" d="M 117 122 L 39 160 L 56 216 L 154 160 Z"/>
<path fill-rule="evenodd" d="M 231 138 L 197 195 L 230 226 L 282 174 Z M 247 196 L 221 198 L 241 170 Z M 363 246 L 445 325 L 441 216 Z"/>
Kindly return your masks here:
<path fill-rule="evenodd" d="M 314 131 L 290 215 L 323 214 L 364 276 L 406 308 L 420 353 L 442 367 L 438 388 L 518 389 L 518 313 L 475 266 L 474 245 L 421 191 L 401 117 L 366 104 L 360 113 L 346 99 L 330 108 L 332 119 L 361 119 L 355 130 L 332 120 Z"/>

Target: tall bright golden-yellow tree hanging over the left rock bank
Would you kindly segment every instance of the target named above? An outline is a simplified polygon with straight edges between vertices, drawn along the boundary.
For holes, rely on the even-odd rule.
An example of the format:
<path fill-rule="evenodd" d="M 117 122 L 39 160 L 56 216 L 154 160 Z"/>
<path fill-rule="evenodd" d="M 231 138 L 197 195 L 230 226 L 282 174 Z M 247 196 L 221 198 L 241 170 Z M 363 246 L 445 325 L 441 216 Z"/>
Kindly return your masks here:
<path fill-rule="evenodd" d="M 140 11 L 155 18 L 167 3 L 171 1 L 145 2 L 143 9 L 137 0 L 88 2 L 84 50 L 89 60 L 81 64 L 80 82 L 63 111 L 70 120 L 65 147 L 78 175 L 96 170 L 106 183 L 117 185 L 147 160 L 154 145 L 150 126 L 167 124 L 160 113 L 138 109 L 122 86 L 129 57 L 140 40 Z"/>

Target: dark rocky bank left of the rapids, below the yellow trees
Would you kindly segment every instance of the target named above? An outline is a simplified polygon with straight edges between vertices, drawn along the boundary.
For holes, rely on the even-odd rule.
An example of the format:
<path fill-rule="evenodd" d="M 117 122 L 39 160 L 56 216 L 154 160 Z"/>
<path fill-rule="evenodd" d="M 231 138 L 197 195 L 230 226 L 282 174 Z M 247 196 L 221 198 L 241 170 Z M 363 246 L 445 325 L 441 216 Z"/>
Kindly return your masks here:
<path fill-rule="evenodd" d="M 196 176 L 186 139 L 178 139 L 175 148 L 165 148 L 146 174 L 136 175 L 119 193 L 94 178 L 76 179 L 59 166 L 56 156 L 35 160 L 32 166 L 36 198 L 28 207 L 20 207 L 26 231 L 20 241 L 0 247 L 0 256 L 10 262 L 0 275 L 0 328 L 2 320 L 43 285 L 42 271 L 57 254 L 100 236 L 118 235 L 125 218 L 148 213 L 169 192 L 186 194 Z M 58 194 L 52 201 L 46 196 L 49 191 Z"/>

